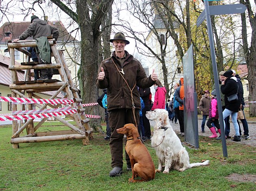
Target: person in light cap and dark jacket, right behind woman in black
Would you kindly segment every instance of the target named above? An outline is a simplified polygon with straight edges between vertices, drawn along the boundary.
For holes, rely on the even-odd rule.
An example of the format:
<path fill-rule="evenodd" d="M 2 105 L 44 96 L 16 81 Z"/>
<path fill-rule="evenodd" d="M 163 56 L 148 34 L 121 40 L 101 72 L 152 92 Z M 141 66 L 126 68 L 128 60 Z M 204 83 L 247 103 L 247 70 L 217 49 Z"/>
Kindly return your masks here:
<path fill-rule="evenodd" d="M 240 106 L 240 108 L 243 111 L 244 108 L 245 108 L 245 100 L 243 98 L 243 84 L 242 84 L 242 81 L 241 81 L 241 77 L 238 74 L 236 74 L 236 71 L 234 71 L 234 70 L 231 70 L 231 71 L 233 72 L 232 76 L 236 77 L 237 83 L 239 85 L 239 92 L 240 92 L 240 95 L 241 95 L 241 106 Z M 249 137 L 249 128 L 248 128 L 247 120 L 245 119 L 244 111 L 243 111 L 243 116 L 244 116 L 244 119 L 240 119 L 240 121 L 243 124 L 243 135 L 242 135 L 242 132 L 241 132 L 241 127 L 240 127 L 239 121 L 237 119 L 237 123 L 238 123 L 238 126 L 239 126 L 239 134 L 240 134 L 241 139 L 249 140 L 251 138 Z"/>

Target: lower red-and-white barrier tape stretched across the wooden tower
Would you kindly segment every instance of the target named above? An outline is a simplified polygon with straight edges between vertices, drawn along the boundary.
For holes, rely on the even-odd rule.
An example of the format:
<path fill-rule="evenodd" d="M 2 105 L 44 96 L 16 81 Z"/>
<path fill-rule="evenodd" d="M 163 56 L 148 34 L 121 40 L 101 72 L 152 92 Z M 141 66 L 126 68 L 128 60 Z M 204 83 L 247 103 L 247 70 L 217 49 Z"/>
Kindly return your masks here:
<path fill-rule="evenodd" d="M 76 109 L 59 111 L 59 112 L 51 112 L 51 113 L 41 113 L 41 114 L 33 114 L 33 115 L 6 115 L 1 116 L 0 121 L 15 121 L 15 120 L 24 120 L 24 119 L 35 119 L 35 118 L 45 118 L 45 117 L 55 117 L 59 115 L 68 115 L 76 113 Z M 99 115 L 85 115 L 88 118 L 100 118 Z"/>

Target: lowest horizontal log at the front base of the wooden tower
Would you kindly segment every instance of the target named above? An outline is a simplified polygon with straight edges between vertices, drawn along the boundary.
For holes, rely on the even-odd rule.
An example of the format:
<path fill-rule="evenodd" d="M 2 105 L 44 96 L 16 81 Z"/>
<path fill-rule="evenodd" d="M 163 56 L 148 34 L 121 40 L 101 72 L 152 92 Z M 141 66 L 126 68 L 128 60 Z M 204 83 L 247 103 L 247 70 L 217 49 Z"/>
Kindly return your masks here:
<path fill-rule="evenodd" d="M 46 142 L 55 140 L 71 140 L 71 139 L 84 139 L 85 134 L 70 134 L 70 135 L 54 135 L 43 137 L 24 137 L 24 138 L 11 138 L 12 144 L 26 143 L 26 142 Z"/>

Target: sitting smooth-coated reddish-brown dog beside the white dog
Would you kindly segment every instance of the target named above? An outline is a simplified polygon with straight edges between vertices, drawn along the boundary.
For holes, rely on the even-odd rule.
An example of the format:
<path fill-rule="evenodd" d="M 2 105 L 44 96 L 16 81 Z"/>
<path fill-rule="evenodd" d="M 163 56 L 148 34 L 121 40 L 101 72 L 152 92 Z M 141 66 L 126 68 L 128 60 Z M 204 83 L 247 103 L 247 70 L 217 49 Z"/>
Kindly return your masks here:
<path fill-rule="evenodd" d="M 156 171 L 150 153 L 139 139 L 139 133 L 135 125 L 128 123 L 124 127 L 117 129 L 117 133 L 126 134 L 126 147 L 132 166 L 132 178 L 129 182 L 148 181 L 155 178 Z M 141 180 L 135 178 L 141 177 Z"/>

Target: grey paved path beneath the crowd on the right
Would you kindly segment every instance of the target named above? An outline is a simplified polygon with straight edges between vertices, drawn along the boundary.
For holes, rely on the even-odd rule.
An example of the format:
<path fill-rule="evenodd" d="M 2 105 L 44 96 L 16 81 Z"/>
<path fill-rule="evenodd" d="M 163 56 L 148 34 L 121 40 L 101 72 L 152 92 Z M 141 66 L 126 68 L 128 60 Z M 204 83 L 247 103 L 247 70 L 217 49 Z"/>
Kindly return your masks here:
<path fill-rule="evenodd" d="M 208 118 L 207 118 L 208 119 Z M 171 121 L 170 121 L 171 122 Z M 207 122 L 207 120 L 206 120 Z M 241 140 L 241 144 L 247 144 L 250 146 L 256 146 L 256 123 L 255 122 L 248 122 L 248 127 L 249 127 L 249 136 L 251 137 L 250 140 Z M 199 136 L 210 136 L 212 133 L 210 132 L 210 129 L 206 126 L 204 127 L 204 133 L 201 132 L 201 124 L 202 124 L 202 119 L 198 119 L 198 134 Z M 150 125 L 154 126 L 154 121 L 150 121 Z M 172 128 L 174 131 L 178 134 L 180 132 L 180 125 L 179 124 L 173 124 L 171 123 Z M 243 125 L 240 123 L 242 134 L 243 134 Z M 219 134 L 218 134 L 219 136 Z M 230 121 L 230 136 L 234 136 L 234 126 L 232 122 Z M 227 142 L 233 142 L 231 139 L 227 139 Z"/>

